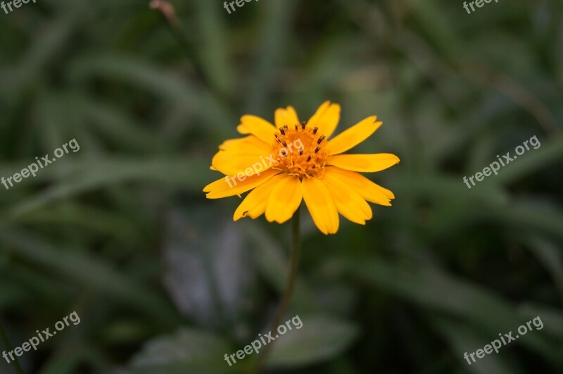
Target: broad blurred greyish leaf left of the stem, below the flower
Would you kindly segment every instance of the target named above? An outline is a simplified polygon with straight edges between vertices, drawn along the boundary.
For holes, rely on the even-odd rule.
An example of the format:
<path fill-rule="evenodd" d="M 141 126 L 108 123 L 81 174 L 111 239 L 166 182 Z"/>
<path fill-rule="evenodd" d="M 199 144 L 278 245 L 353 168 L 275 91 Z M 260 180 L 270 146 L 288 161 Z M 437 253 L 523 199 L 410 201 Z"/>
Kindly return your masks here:
<path fill-rule="evenodd" d="M 200 327 L 232 330 L 250 312 L 255 279 L 243 232 L 208 207 L 171 209 L 165 223 L 163 276 L 175 305 Z"/>

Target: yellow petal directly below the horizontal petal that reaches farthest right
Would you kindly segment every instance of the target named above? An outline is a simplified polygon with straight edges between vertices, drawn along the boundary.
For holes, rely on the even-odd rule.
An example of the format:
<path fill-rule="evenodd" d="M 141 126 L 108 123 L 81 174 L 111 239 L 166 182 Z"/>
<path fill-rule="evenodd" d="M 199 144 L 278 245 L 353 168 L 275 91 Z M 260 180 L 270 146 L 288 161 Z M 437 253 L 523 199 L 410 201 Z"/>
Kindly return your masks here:
<path fill-rule="evenodd" d="M 338 178 L 341 182 L 346 184 L 350 189 L 358 192 L 361 197 L 375 204 L 391 206 L 389 199 L 395 199 L 393 192 L 388 189 L 377 185 L 371 180 L 367 179 L 360 173 L 355 171 L 344 170 L 329 166 L 324 169 L 324 175 L 330 175 Z"/>

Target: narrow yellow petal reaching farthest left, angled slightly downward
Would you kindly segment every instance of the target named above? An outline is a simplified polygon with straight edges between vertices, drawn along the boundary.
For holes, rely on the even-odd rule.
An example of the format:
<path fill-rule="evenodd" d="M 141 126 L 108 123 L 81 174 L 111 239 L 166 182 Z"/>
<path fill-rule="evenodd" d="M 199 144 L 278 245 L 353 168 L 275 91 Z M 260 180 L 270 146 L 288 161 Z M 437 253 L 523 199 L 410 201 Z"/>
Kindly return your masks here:
<path fill-rule="evenodd" d="M 260 175 L 255 174 L 250 177 L 246 175 L 227 176 L 205 186 L 203 192 L 208 192 L 208 194 L 205 195 L 208 199 L 220 199 L 222 197 L 240 195 L 249 189 L 258 187 L 279 173 L 279 170 L 268 169 L 264 173 L 260 173 Z"/>

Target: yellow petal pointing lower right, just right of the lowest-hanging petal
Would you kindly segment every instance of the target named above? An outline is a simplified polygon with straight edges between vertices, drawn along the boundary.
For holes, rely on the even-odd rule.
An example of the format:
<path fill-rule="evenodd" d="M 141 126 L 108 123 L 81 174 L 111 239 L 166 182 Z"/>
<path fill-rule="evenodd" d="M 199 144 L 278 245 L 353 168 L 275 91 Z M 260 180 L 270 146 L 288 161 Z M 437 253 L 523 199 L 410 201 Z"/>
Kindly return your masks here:
<path fill-rule="evenodd" d="M 360 225 L 365 225 L 366 220 L 372 219 L 372 208 L 354 189 L 329 174 L 324 175 L 322 182 L 329 189 L 342 216 Z"/>

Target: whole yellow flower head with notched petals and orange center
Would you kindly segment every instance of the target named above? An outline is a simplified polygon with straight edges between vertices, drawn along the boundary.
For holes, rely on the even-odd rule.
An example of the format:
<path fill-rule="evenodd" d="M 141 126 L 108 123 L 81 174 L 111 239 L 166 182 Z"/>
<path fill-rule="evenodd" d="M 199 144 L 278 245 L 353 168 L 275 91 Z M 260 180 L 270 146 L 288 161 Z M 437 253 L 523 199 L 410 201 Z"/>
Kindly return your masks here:
<path fill-rule="evenodd" d="M 372 218 L 366 201 L 391 206 L 393 192 L 358 172 L 373 173 L 399 163 L 393 154 L 342 154 L 381 126 L 372 116 L 329 140 L 340 120 L 339 104 L 326 101 L 308 122 L 301 123 L 291 106 L 275 112 L 276 126 L 256 116 L 243 116 L 243 135 L 220 145 L 212 170 L 226 177 L 207 185 L 208 199 L 240 195 L 252 189 L 234 212 L 234 220 L 258 218 L 284 223 L 301 205 L 309 209 L 324 234 L 339 230 L 339 213 L 365 225 Z"/>

